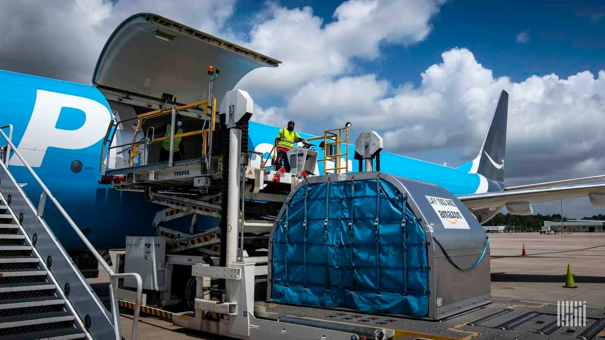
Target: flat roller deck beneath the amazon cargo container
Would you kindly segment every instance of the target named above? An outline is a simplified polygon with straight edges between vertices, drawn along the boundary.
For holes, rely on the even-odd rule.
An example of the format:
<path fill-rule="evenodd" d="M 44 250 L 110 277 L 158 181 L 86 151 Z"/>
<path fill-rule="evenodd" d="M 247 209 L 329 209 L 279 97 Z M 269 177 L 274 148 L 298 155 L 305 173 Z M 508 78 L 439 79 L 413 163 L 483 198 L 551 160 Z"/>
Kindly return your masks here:
<path fill-rule="evenodd" d="M 255 316 L 279 321 L 285 316 L 391 330 L 394 339 L 586 339 L 604 338 L 605 309 L 587 308 L 586 327 L 557 326 L 557 305 L 527 301 L 493 301 L 442 321 L 256 302 Z M 591 329 L 591 327 L 600 329 Z M 597 332 L 587 338 L 586 332 Z M 386 337 L 385 337 L 386 338 Z"/>

